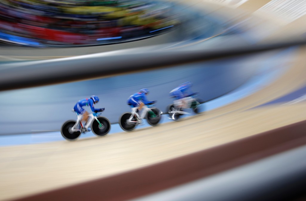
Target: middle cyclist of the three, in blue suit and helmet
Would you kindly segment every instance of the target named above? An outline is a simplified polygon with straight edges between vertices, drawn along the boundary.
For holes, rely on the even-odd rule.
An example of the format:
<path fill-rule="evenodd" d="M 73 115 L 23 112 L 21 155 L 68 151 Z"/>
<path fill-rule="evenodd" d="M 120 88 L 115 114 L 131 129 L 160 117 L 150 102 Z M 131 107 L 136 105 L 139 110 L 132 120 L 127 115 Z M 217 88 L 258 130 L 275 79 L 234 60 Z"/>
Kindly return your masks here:
<path fill-rule="evenodd" d="M 128 98 L 128 105 L 130 105 L 132 107 L 132 114 L 134 114 L 136 116 L 137 119 L 139 119 L 141 121 L 141 119 L 144 118 L 145 114 L 141 114 L 139 116 L 138 112 L 142 109 L 142 107 L 144 105 L 147 104 L 153 104 L 156 101 L 148 101 L 146 95 L 148 95 L 149 90 L 144 88 L 144 89 L 140 89 L 139 92 L 131 95 Z"/>

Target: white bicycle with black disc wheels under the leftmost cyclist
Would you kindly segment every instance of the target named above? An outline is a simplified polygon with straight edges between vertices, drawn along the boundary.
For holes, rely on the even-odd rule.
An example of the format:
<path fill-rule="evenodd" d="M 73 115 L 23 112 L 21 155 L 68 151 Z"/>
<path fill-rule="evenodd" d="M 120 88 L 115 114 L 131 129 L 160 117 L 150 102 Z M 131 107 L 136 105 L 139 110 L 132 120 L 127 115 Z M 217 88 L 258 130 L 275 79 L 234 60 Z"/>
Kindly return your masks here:
<path fill-rule="evenodd" d="M 95 112 L 89 115 L 88 122 L 83 126 L 82 115 L 72 110 L 77 115 L 77 120 L 68 120 L 61 127 L 61 134 L 66 140 L 76 140 L 81 133 L 91 131 L 96 136 L 105 136 L 110 131 L 110 121 L 106 117 L 99 116 L 101 113 Z"/>

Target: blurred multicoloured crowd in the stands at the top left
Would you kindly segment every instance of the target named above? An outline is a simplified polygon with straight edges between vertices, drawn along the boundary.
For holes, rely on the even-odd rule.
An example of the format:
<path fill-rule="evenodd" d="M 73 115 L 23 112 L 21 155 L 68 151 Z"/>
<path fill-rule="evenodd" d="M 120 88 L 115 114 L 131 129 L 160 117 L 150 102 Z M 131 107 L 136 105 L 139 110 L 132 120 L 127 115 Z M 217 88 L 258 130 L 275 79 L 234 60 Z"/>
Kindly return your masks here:
<path fill-rule="evenodd" d="M 167 3 L 145 0 L 1 0 L 0 40 L 34 45 L 115 43 L 179 24 Z"/>

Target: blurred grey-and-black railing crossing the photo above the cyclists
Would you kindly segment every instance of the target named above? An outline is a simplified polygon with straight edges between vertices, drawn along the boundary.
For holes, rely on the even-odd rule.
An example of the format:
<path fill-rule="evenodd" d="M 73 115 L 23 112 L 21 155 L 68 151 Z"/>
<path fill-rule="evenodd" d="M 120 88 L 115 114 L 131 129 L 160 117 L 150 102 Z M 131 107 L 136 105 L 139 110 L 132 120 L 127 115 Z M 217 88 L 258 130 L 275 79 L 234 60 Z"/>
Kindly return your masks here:
<path fill-rule="evenodd" d="M 292 46 L 305 45 L 306 39 L 269 44 L 236 47 L 218 47 L 213 50 L 159 50 L 107 55 L 105 53 L 42 61 L 27 61 L 0 66 L 0 91 L 71 82 L 133 73 L 151 69 L 174 67 L 175 65 L 210 59 L 258 53 Z"/>

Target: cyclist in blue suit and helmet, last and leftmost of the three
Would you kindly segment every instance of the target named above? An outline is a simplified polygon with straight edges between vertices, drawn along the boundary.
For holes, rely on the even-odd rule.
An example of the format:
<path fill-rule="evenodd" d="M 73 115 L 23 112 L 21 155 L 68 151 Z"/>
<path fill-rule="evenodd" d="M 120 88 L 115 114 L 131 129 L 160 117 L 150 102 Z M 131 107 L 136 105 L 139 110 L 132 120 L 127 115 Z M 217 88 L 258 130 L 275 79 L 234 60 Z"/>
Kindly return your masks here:
<path fill-rule="evenodd" d="M 85 121 L 85 125 L 88 122 L 89 113 L 84 110 L 83 106 L 90 106 L 93 112 L 102 112 L 105 108 L 95 109 L 94 104 L 99 102 L 99 98 L 96 95 L 92 95 L 90 98 L 79 100 L 73 107 L 74 111 L 78 114 L 82 114 L 82 121 Z"/>

